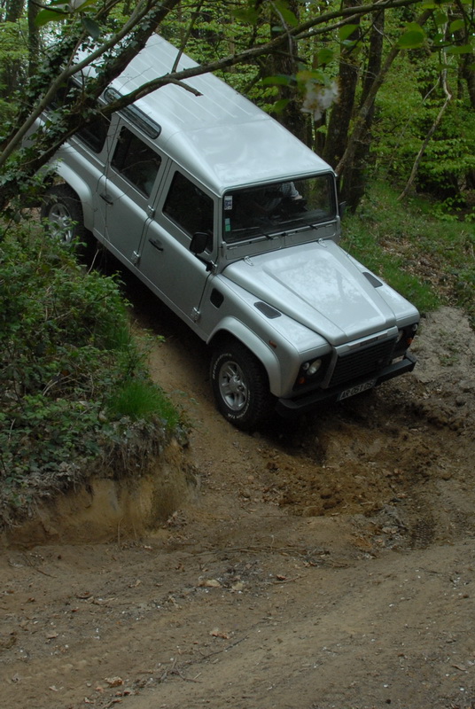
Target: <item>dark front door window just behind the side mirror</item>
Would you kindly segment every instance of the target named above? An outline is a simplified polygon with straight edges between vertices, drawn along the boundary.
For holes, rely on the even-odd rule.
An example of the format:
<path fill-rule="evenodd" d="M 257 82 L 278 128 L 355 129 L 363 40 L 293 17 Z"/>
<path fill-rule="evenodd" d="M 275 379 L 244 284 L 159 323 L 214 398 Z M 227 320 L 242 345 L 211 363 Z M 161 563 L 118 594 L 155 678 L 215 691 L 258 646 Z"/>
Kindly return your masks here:
<path fill-rule="evenodd" d="M 213 234 L 213 199 L 179 172 L 172 180 L 163 212 L 190 236 L 196 231 Z"/>

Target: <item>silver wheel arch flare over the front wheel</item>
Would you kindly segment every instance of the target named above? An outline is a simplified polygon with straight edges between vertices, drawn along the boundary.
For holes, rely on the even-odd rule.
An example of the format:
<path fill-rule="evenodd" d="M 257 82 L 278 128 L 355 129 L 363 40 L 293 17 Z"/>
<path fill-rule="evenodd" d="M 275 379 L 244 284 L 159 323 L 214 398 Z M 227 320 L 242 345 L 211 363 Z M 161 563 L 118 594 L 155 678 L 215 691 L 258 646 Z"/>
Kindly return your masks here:
<path fill-rule="evenodd" d="M 269 380 L 269 391 L 278 395 L 280 386 L 280 364 L 269 345 L 235 317 L 225 317 L 207 340 L 211 349 L 223 347 L 229 341 L 239 342 L 261 362 Z"/>

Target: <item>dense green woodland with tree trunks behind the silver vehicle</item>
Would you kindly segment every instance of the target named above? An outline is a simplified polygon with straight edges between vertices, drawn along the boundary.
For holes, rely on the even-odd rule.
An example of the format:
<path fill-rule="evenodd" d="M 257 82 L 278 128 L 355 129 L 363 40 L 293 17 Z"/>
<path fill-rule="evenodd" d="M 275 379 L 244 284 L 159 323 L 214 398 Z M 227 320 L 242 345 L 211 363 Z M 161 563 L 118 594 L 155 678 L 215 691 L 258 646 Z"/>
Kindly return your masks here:
<path fill-rule="evenodd" d="M 471 219 L 474 29 L 472 0 L 53 0 L 48 9 L 2 0 L 3 206 L 65 136 L 93 120 L 106 83 L 158 31 L 322 155 L 337 169 L 348 206 L 379 177 L 397 185 L 401 199 L 424 191 L 440 214 Z M 58 109 L 33 153 L 21 154 L 24 132 L 74 74 L 82 45 L 102 54 L 97 80 Z M 157 79 L 160 87 L 186 75 Z"/>

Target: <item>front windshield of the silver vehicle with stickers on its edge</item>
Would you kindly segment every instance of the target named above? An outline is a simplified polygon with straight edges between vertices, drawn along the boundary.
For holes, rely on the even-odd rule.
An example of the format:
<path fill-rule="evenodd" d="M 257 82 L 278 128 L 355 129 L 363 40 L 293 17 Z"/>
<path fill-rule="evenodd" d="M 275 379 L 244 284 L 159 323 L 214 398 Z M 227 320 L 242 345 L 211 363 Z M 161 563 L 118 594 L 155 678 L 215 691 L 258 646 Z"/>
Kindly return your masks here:
<path fill-rule="evenodd" d="M 336 215 L 333 175 L 227 192 L 223 214 L 229 243 L 329 222 Z"/>

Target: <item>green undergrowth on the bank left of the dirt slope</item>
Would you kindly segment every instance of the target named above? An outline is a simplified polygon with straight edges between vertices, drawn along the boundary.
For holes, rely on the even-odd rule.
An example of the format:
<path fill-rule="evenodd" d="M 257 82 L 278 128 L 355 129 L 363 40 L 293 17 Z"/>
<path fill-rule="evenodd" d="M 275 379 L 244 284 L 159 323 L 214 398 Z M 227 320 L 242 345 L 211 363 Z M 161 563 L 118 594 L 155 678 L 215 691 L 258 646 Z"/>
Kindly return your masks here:
<path fill-rule="evenodd" d="M 38 479 L 71 484 L 119 424 L 146 419 L 158 440 L 179 415 L 148 378 L 115 279 L 86 273 L 37 224 L 0 236 L 0 506 L 11 507 Z"/>

